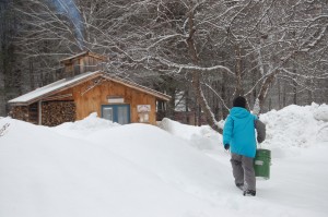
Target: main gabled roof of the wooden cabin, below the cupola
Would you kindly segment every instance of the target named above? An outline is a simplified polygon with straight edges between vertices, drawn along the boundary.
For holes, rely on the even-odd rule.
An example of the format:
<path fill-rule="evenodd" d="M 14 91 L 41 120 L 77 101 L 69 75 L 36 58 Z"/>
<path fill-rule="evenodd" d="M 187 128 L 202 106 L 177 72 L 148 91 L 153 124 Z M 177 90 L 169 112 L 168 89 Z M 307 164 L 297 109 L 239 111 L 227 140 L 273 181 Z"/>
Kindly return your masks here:
<path fill-rule="evenodd" d="M 37 88 L 37 89 L 32 91 L 27 94 L 24 94 L 24 95 L 19 96 L 14 99 L 11 99 L 8 103 L 12 104 L 12 105 L 22 105 L 22 106 L 23 105 L 30 105 L 32 103 L 35 103 L 35 101 L 39 100 L 40 98 L 44 98 L 44 97 L 47 97 L 47 96 L 50 96 L 50 95 L 55 94 L 59 89 L 62 89 L 62 88 L 66 88 L 66 87 L 69 88 L 72 85 L 79 84 L 81 82 L 90 80 L 90 77 L 95 77 L 95 76 L 98 76 L 98 75 L 102 75 L 107 80 L 110 80 L 110 81 L 120 83 L 122 85 L 129 86 L 131 88 L 151 94 L 151 95 L 155 96 L 156 98 L 160 98 L 160 99 L 163 99 L 163 100 L 169 100 L 169 98 L 171 98 L 171 96 L 168 96 L 168 95 L 165 95 L 165 94 L 162 94 L 162 93 L 156 92 L 154 89 L 148 88 L 145 86 L 136 84 L 133 82 L 130 82 L 130 81 L 127 81 L 127 80 L 124 80 L 124 79 L 120 79 L 120 77 L 116 77 L 116 76 L 110 76 L 108 74 L 105 74 L 102 71 L 95 71 L 95 72 L 86 72 L 86 73 L 83 73 L 83 74 L 79 74 L 79 75 L 77 75 L 72 79 L 59 80 L 59 81 L 54 82 L 51 84 L 48 84 L 44 87 Z"/>

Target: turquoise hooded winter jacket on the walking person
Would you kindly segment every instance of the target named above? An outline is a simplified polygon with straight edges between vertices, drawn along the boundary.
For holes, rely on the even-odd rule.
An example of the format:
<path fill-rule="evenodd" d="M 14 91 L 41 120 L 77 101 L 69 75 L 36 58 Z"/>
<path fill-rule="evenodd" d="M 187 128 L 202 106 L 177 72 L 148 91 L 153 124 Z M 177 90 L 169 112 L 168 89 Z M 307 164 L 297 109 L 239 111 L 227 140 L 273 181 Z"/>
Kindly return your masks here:
<path fill-rule="evenodd" d="M 223 128 L 223 145 L 230 144 L 231 153 L 255 157 L 256 137 L 255 120 L 256 116 L 247 109 L 233 107 L 230 110 Z"/>

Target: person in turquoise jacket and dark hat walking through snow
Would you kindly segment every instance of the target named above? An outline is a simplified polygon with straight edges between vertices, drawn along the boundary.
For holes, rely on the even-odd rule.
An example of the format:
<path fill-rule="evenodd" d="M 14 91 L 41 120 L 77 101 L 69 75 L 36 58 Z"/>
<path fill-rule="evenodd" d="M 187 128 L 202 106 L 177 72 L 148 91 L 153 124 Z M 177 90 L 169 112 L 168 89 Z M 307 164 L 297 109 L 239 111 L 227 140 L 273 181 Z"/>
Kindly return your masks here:
<path fill-rule="evenodd" d="M 257 141 L 266 137 L 266 125 L 246 109 L 246 99 L 242 96 L 233 100 L 233 108 L 226 117 L 223 128 L 223 145 L 231 150 L 231 165 L 237 188 L 244 195 L 256 195 L 254 158 Z"/>

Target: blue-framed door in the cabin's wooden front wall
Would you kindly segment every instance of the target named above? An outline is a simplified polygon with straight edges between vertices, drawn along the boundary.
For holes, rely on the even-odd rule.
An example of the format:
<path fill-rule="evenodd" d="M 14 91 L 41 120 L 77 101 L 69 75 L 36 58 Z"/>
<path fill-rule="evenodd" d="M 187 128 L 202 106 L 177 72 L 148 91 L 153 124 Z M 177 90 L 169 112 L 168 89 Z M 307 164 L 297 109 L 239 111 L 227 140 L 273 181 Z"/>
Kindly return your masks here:
<path fill-rule="evenodd" d="M 103 105 L 102 117 L 119 124 L 130 123 L 130 105 Z"/>

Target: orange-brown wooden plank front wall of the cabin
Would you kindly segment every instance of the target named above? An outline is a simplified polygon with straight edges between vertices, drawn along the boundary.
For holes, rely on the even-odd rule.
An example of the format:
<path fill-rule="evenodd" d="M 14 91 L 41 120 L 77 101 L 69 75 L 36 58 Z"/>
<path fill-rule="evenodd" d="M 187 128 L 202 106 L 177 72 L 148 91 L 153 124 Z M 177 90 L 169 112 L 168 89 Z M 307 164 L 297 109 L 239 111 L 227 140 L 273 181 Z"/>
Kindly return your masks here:
<path fill-rule="evenodd" d="M 59 94 L 72 94 L 75 103 L 77 120 L 84 119 L 92 112 L 97 112 L 98 117 L 102 117 L 102 105 L 117 105 L 108 103 L 108 97 L 118 96 L 124 98 L 124 104 L 130 105 L 132 123 L 140 122 L 138 105 L 150 105 L 149 123 L 156 123 L 156 98 L 154 96 L 113 81 L 98 77 Z"/>

